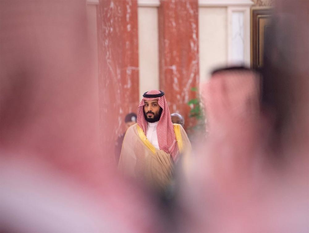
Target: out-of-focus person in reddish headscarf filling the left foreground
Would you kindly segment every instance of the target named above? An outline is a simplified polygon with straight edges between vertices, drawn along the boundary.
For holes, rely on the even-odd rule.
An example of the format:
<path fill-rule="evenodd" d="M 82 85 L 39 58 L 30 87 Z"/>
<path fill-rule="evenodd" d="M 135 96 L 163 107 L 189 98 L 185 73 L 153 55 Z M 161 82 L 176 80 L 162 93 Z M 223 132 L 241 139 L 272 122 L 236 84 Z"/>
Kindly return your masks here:
<path fill-rule="evenodd" d="M 0 15 L 0 231 L 160 231 L 100 148 L 85 1 L 2 0 Z"/>

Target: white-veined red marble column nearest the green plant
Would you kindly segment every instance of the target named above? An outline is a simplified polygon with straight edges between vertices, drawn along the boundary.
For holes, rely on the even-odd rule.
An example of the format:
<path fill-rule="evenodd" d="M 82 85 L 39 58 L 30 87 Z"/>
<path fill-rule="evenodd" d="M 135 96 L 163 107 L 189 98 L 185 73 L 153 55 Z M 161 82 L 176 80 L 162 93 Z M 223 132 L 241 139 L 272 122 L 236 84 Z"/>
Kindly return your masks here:
<path fill-rule="evenodd" d="M 187 102 L 199 86 L 197 0 L 161 0 L 159 7 L 160 89 L 169 108 L 185 117 L 185 128 L 194 124 Z"/>

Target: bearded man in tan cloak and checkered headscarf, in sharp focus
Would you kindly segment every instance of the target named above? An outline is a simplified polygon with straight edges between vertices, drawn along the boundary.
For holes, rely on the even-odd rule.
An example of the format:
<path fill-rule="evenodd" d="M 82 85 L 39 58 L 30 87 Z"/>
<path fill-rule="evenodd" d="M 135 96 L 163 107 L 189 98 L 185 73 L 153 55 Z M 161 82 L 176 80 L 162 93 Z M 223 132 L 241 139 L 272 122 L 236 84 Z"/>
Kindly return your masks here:
<path fill-rule="evenodd" d="M 125 176 L 162 190 L 172 178 L 179 155 L 190 151 L 184 129 L 171 121 L 164 93 L 151 90 L 138 105 L 137 124 L 125 134 L 118 168 Z"/>

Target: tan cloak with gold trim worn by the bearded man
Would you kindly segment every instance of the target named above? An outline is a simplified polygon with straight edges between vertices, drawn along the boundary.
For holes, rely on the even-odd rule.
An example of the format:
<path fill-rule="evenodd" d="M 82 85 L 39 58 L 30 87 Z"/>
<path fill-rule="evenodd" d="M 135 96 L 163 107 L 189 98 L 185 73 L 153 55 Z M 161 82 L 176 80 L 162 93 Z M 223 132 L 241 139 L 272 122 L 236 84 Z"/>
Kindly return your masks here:
<path fill-rule="evenodd" d="M 188 155 L 191 144 L 181 125 L 174 124 L 177 150 Z M 169 185 L 174 161 L 169 153 L 156 149 L 146 138 L 138 124 L 125 133 L 118 169 L 126 177 L 136 178 L 158 190 Z"/>

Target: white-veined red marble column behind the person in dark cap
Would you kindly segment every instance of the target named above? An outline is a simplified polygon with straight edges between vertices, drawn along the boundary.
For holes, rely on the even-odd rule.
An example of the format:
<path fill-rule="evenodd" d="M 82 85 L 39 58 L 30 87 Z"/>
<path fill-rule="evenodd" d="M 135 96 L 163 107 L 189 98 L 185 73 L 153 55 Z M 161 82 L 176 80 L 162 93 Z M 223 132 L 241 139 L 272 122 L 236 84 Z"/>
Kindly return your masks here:
<path fill-rule="evenodd" d="M 124 117 L 139 102 L 137 19 L 136 0 L 100 0 L 97 6 L 100 129 L 104 159 L 111 161 Z"/>

